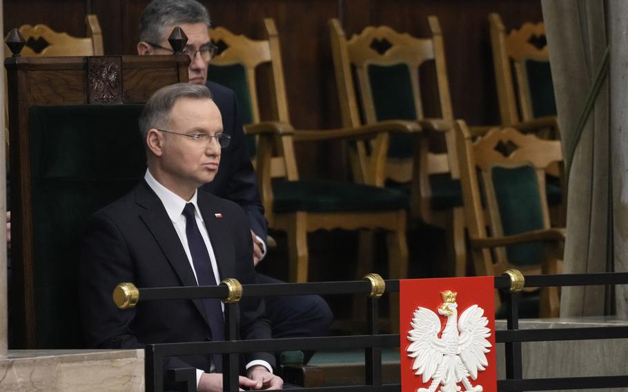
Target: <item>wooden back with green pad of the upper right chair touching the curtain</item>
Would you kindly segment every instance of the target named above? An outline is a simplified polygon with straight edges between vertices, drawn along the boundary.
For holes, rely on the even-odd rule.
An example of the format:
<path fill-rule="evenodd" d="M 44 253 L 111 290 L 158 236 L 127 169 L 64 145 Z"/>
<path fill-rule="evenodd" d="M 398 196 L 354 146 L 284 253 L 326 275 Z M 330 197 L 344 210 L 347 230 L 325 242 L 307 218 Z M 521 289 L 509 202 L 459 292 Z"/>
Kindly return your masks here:
<path fill-rule="evenodd" d="M 556 116 L 544 24 L 524 23 L 507 33 L 496 13 L 489 24 L 502 124 Z"/>

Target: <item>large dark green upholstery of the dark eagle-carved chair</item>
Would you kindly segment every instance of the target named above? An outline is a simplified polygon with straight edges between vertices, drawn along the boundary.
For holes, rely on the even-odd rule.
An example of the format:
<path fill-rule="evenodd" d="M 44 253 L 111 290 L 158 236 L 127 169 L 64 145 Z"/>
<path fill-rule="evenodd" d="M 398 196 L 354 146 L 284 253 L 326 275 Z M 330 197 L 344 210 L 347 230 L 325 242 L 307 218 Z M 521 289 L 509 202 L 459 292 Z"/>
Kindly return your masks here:
<path fill-rule="evenodd" d="M 141 105 L 32 106 L 33 266 L 37 348 L 81 344 L 77 250 L 86 219 L 137 184 L 146 155 Z M 95 277 L 97 278 L 97 277 Z"/>

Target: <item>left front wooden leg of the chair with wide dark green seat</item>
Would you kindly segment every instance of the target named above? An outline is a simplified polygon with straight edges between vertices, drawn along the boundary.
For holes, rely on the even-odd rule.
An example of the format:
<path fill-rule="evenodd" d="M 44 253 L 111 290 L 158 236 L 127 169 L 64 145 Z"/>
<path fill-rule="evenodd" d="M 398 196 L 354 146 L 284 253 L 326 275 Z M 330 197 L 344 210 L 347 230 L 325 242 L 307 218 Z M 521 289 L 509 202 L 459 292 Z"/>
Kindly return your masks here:
<path fill-rule="evenodd" d="M 288 226 L 289 275 L 291 282 L 303 283 L 308 280 L 308 238 L 307 215 L 297 212 Z"/>

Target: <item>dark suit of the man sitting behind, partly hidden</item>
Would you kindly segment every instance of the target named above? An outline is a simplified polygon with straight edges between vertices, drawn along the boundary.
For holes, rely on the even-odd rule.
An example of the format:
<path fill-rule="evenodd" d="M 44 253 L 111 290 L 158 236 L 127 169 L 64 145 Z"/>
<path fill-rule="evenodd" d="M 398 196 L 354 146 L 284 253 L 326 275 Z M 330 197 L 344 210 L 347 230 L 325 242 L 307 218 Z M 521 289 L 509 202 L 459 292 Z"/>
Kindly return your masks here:
<path fill-rule="evenodd" d="M 208 81 L 206 86 L 222 115 L 224 133 L 231 135 L 222 150 L 218 173 L 202 188 L 218 197 L 231 200 L 244 209 L 253 232 L 266 241 L 267 226 L 264 206 L 259 199 L 257 177 L 248 157 L 242 121 L 237 111 L 235 92 Z M 257 274 L 259 283 L 281 283 L 272 277 Z M 318 295 L 266 298 L 266 315 L 271 321 L 274 337 L 308 337 L 328 334 L 333 315 Z"/>

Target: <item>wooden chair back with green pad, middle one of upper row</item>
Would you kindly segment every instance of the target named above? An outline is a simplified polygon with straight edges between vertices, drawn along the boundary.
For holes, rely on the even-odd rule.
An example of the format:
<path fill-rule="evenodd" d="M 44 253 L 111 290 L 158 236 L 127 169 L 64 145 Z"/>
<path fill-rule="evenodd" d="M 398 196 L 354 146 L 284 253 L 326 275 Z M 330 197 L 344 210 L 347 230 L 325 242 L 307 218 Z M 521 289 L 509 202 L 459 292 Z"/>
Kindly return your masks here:
<path fill-rule="evenodd" d="M 438 90 L 440 117 L 453 120 L 440 23 L 433 16 L 428 21 L 431 29 L 429 38 L 412 37 L 388 26 L 369 26 L 351 39 L 346 39 L 340 21 L 330 21 L 344 126 L 373 124 L 389 119 L 424 118 L 422 86 L 434 86 Z M 432 77 L 427 76 L 430 72 L 420 72 L 425 63 L 434 63 L 435 75 L 432 73 Z M 420 74 L 424 75 L 420 77 Z M 455 156 L 453 136 L 447 133 L 446 139 L 447 151 Z M 438 155 L 434 151 L 430 154 Z M 388 157 L 390 164 L 386 177 L 398 183 L 410 182 L 413 157 L 411 136 L 391 135 Z M 454 162 L 452 158 L 449 164 L 427 170 L 431 174 L 449 173 L 451 167 L 457 165 Z M 404 167 L 400 169 L 401 166 Z"/>

